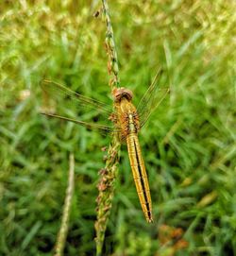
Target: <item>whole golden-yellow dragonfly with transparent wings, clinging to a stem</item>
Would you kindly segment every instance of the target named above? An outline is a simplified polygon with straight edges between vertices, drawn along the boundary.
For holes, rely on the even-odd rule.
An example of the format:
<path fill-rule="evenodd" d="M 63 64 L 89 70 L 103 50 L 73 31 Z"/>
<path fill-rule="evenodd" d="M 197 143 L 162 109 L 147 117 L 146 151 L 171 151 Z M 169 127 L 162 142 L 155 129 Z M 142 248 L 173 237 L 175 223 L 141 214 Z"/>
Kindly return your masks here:
<path fill-rule="evenodd" d="M 160 70 L 157 72 L 137 108 L 132 103 L 132 91 L 125 87 L 113 89 L 111 108 L 51 80 L 44 80 L 41 84 L 44 94 L 57 103 L 57 110 L 42 111 L 42 114 L 105 133 L 116 133 L 120 142 L 126 144 L 137 194 L 148 223 L 153 222 L 152 200 L 138 133 L 170 91 L 159 85 L 161 73 Z M 78 117 L 75 117 L 75 111 Z"/>

